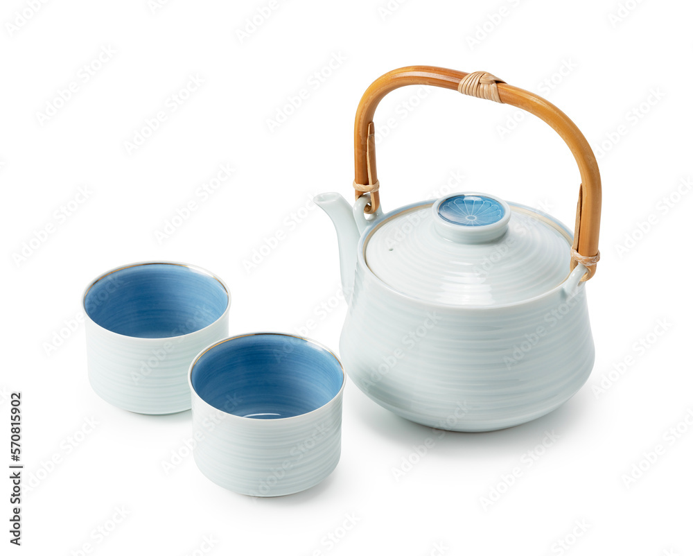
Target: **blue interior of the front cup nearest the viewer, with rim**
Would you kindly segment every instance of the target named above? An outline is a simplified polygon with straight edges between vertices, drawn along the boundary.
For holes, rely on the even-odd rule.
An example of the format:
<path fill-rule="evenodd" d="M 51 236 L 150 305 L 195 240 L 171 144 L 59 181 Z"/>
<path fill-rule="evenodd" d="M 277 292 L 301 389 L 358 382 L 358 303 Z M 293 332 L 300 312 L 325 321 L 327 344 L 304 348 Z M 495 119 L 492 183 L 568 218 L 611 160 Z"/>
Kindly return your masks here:
<path fill-rule="evenodd" d="M 282 419 L 328 403 L 342 389 L 344 372 L 330 351 L 310 340 L 263 333 L 211 347 L 190 378 L 198 396 L 218 410 Z"/>

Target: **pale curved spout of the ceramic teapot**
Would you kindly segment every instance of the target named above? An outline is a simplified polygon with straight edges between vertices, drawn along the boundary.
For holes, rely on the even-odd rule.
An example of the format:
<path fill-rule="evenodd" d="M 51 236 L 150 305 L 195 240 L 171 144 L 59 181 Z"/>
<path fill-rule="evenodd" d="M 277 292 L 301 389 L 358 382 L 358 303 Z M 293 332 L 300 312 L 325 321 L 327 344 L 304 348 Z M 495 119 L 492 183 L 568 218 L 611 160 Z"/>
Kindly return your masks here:
<path fill-rule="evenodd" d="M 356 247 L 359 231 L 354 220 L 353 209 L 339 193 L 320 193 L 313 198 L 315 204 L 332 219 L 337 230 L 337 243 L 340 248 L 340 268 L 342 290 L 347 301 L 351 299 L 353 275 L 356 270 Z"/>

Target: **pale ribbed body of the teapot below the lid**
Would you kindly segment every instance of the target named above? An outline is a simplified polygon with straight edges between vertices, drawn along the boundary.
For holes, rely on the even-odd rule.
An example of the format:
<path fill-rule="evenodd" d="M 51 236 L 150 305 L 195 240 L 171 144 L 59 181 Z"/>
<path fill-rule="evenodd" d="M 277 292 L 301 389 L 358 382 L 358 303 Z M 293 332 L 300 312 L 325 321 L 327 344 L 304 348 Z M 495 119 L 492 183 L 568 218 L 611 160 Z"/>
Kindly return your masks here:
<path fill-rule="evenodd" d="M 584 284 L 572 299 L 557 288 L 505 307 L 436 306 L 393 292 L 361 260 L 340 354 L 381 406 L 451 431 L 545 415 L 579 390 L 595 358 Z"/>

